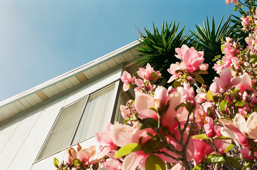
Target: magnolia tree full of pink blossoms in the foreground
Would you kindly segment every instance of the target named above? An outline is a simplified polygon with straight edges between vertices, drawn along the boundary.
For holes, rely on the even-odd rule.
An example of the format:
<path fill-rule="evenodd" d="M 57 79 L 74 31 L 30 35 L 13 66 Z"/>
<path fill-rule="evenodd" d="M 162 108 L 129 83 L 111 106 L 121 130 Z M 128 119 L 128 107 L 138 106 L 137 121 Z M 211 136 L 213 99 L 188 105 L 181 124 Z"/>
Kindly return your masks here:
<path fill-rule="evenodd" d="M 224 56 L 213 69 L 219 77 L 207 87 L 204 52 L 182 45 L 181 60 L 170 65 L 173 86 L 155 86 L 161 78 L 150 64 L 137 75 L 123 72 L 127 91 L 135 87 L 135 99 L 120 109 L 124 124 L 109 123 L 96 133 L 102 145 L 68 149 L 67 160 L 58 169 L 150 170 L 150 169 L 256 169 L 257 168 L 257 9 L 253 1 L 241 3 L 249 11 L 241 17 L 249 33 L 242 48 L 230 37 L 222 42 Z M 194 87 L 194 88 L 193 88 Z M 196 90 L 194 90 L 196 89 Z"/>

